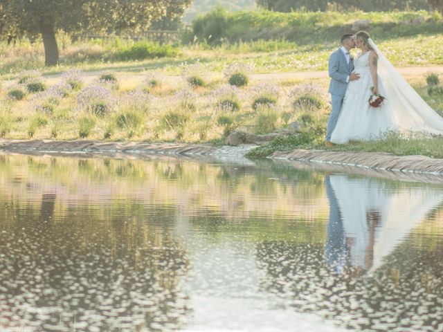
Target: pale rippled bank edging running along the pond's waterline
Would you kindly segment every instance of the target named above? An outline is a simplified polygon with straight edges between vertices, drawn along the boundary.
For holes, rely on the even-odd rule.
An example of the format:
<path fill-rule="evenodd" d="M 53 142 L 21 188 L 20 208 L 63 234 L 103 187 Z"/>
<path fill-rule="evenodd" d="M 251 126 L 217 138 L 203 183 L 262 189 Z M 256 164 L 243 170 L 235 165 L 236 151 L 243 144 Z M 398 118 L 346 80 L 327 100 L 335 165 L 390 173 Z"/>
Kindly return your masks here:
<path fill-rule="evenodd" d="M 255 145 L 237 147 L 215 147 L 209 144 L 189 143 L 143 143 L 143 142 L 100 142 L 93 140 L 0 140 L 0 151 L 19 154 L 64 154 L 100 155 L 125 158 L 143 158 L 152 155 L 186 156 L 188 158 L 210 158 L 217 160 L 244 160 L 245 154 Z M 272 160 L 296 160 L 317 165 L 341 165 L 347 169 L 375 169 L 401 172 L 408 176 L 432 174 L 443 176 L 443 159 L 426 156 L 393 156 L 385 153 L 341 152 L 323 150 L 277 151 Z M 322 168 L 322 167 L 320 167 Z M 325 168 L 325 167 L 323 167 Z M 327 167 L 331 168 L 331 167 Z M 342 168 L 343 169 L 343 168 Z"/>

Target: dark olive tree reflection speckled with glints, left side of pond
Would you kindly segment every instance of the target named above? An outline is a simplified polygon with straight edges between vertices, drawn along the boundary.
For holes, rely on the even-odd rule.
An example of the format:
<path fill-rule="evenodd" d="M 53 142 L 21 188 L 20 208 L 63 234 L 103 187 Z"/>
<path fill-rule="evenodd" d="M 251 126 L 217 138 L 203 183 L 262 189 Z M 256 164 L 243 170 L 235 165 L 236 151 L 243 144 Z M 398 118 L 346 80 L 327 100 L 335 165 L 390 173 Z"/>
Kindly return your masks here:
<path fill-rule="evenodd" d="M 168 230 L 173 211 L 129 203 L 93 220 L 94 205 L 70 206 L 60 220 L 55 200 L 44 193 L 40 210 L 1 203 L 3 329 L 157 331 L 186 321 L 188 260 Z M 150 217 L 162 225 L 145 221 Z"/>

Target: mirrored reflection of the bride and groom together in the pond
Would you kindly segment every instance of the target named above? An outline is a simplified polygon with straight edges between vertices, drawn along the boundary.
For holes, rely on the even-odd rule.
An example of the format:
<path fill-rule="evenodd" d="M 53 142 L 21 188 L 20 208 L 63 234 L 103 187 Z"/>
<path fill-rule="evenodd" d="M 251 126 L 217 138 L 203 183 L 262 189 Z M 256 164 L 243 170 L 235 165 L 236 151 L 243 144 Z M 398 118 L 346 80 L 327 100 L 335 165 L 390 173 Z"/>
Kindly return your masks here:
<path fill-rule="evenodd" d="M 325 259 L 340 275 L 372 273 L 443 201 L 430 186 L 388 185 L 375 178 L 326 175 L 329 221 Z"/>

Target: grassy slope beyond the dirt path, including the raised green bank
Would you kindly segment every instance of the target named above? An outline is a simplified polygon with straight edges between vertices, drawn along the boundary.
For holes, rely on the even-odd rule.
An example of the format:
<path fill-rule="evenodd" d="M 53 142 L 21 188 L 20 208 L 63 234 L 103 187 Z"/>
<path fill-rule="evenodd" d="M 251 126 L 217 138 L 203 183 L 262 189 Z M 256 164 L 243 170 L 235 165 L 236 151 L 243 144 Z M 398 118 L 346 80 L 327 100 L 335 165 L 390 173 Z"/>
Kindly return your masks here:
<path fill-rule="evenodd" d="M 437 12 L 225 12 L 216 9 L 193 22 L 183 43 L 174 46 L 134 44 L 114 39 L 72 42 L 58 33 L 60 66 L 44 68 L 42 40 L 0 43 L 0 75 L 27 69 L 61 73 L 91 70 L 159 70 L 181 73 L 200 62 L 220 71 L 246 62 L 257 73 L 324 70 L 342 33 L 368 30 L 397 66 L 443 64 L 443 19 Z M 140 53 L 145 47 L 147 52 Z M 143 56 L 143 54 L 145 56 Z M 136 55 L 135 57 L 129 55 Z"/>

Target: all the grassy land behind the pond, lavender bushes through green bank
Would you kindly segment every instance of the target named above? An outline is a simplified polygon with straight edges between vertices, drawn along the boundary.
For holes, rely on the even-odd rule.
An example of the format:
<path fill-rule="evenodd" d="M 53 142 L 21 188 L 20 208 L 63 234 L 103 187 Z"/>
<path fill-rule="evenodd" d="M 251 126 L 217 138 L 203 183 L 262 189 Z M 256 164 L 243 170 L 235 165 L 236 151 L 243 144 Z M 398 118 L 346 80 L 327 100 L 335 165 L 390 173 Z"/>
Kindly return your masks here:
<path fill-rule="evenodd" d="M 198 35 L 210 32 L 204 24 L 214 23 L 210 19 L 225 24 L 213 30 L 212 40 Z M 323 148 L 328 80 L 262 84 L 249 75 L 324 71 L 336 39 L 361 20 L 370 22 L 368 30 L 395 66 L 443 64 L 442 17 L 428 12 L 216 11 L 195 21 L 197 42 L 170 46 L 118 38 L 72 42 L 59 33 L 60 66 L 51 68 L 43 66 L 42 42 L 22 39 L 0 44 L 0 136 L 221 142 L 235 129 L 268 133 L 298 122 L 300 136 L 276 140 L 251 155 Z M 91 71 L 104 75 L 91 80 Z M 430 94 L 426 75 L 407 78 L 443 114 L 442 89 Z M 442 143 L 389 136 L 336 149 L 443 157 Z"/>

